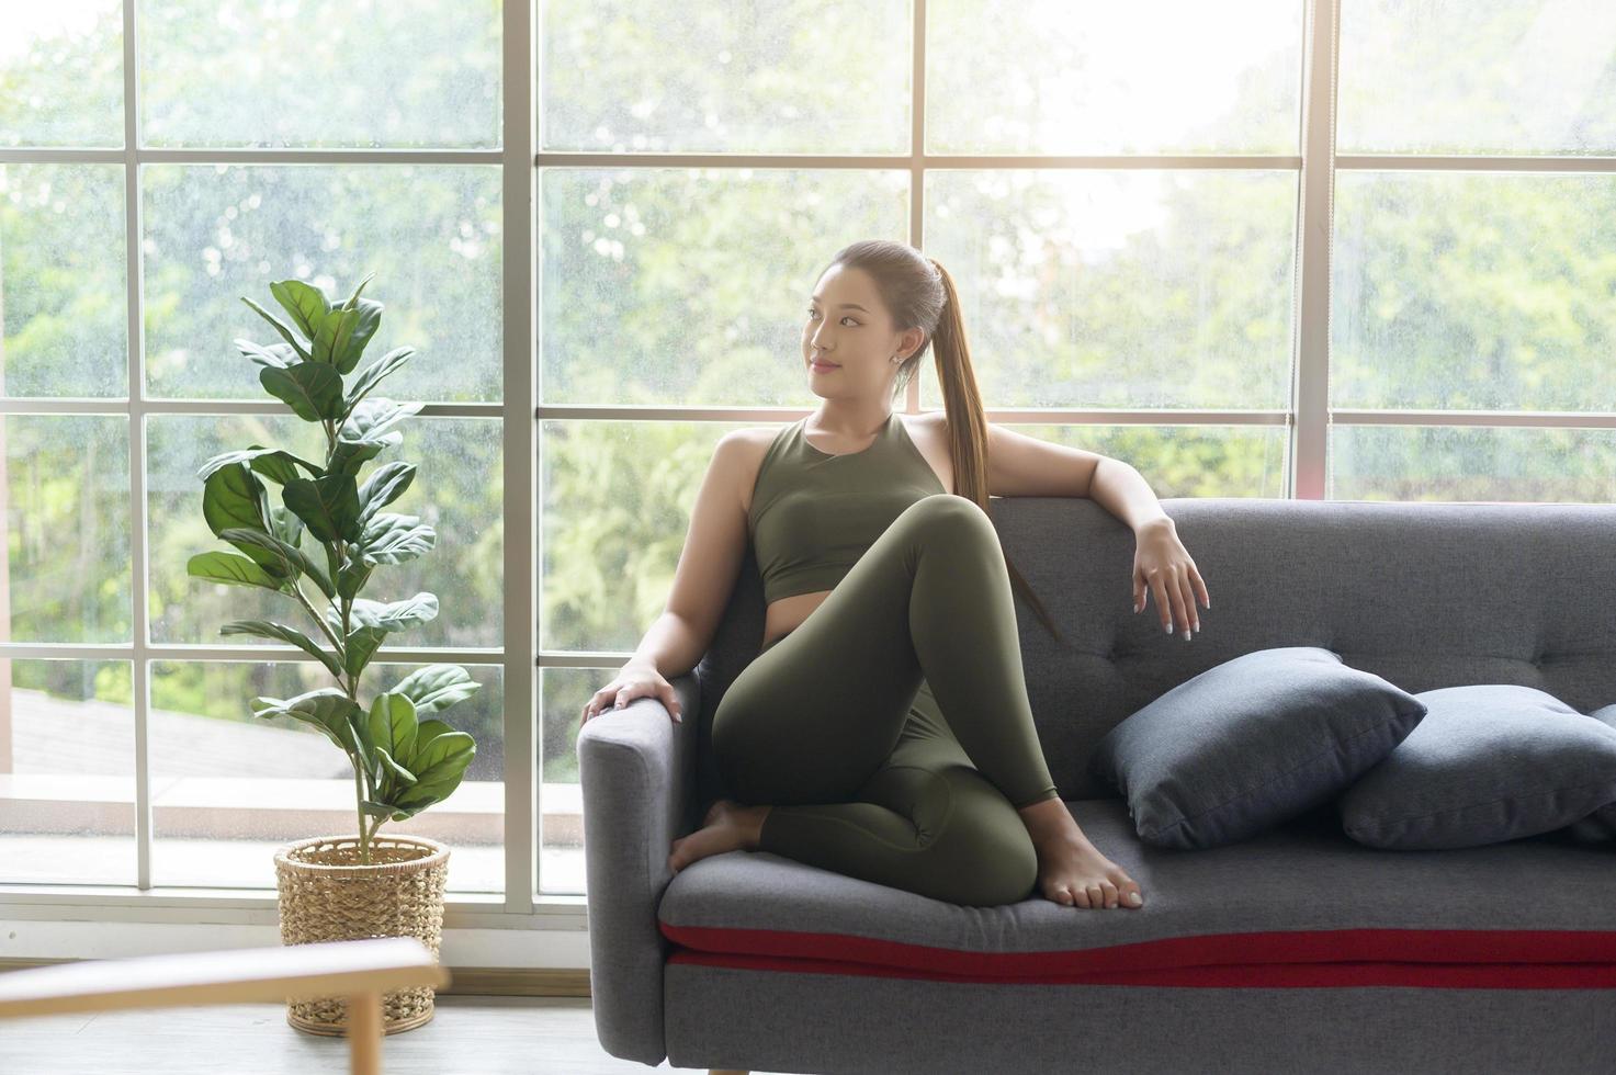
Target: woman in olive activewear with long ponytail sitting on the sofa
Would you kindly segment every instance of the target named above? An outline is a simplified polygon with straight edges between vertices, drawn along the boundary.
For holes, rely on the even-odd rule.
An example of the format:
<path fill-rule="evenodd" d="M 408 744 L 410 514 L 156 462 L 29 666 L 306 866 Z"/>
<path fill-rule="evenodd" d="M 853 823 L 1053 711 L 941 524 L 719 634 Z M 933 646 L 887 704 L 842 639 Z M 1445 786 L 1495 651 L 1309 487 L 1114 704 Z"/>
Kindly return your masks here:
<path fill-rule="evenodd" d="M 583 721 L 638 697 L 682 719 L 667 677 L 706 653 L 750 532 L 763 650 L 713 716 L 732 797 L 674 841 L 674 873 L 761 849 L 957 904 L 1018 902 L 1036 884 L 1067 907 L 1141 907 L 1049 776 L 1012 575 L 1058 632 L 986 511 L 989 493 L 1100 491 L 1104 457 L 983 420 L 953 281 L 915 247 L 845 247 L 811 302 L 802 348 L 819 409 L 719 441 L 667 613 Z M 947 409 L 898 414 L 932 341 Z M 1138 533 L 1134 613 L 1154 592 L 1165 629 L 1191 639 L 1210 597 L 1172 519 L 1131 467 L 1113 462 L 1102 491 Z"/>

